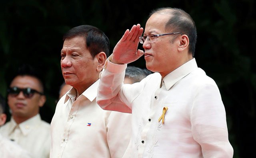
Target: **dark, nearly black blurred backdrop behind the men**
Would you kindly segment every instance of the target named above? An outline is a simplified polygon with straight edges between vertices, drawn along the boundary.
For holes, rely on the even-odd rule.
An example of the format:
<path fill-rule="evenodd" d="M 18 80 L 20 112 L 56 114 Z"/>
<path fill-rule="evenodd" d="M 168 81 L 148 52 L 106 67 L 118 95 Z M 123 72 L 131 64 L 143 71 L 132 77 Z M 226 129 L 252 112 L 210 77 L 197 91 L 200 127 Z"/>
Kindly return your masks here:
<path fill-rule="evenodd" d="M 112 51 L 126 29 L 144 27 L 150 11 L 159 7 L 181 8 L 194 19 L 195 58 L 220 89 L 234 158 L 256 157 L 255 0 L 0 0 L 0 94 L 6 97 L 19 65 L 34 64 L 46 86 L 40 114 L 50 123 L 63 82 L 62 35 L 78 25 L 94 25 L 109 37 Z M 144 57 L 130 65 L 146 68 Z"/>

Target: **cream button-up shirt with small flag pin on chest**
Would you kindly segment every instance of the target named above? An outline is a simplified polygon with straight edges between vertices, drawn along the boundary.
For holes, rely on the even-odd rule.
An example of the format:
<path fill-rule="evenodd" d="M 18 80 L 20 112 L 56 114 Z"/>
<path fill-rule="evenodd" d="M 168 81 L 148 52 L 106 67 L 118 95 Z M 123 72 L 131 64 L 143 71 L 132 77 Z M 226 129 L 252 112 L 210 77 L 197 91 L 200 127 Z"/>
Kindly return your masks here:
<path fill-rule="evenodd" d="M 76 100 L 72 88 L 58 101 L 51 122 L 51 158 L 122 158 L 126 152 L 131 115 L 101 109 L 98 83 Z"/>

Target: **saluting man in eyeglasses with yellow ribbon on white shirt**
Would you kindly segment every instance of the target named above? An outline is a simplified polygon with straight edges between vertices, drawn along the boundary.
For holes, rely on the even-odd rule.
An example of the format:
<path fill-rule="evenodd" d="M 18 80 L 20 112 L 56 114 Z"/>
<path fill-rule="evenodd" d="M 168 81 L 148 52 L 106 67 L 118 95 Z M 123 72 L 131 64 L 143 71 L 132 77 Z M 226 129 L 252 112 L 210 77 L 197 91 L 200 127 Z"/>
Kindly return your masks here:
<path fill-rule="evenodd" d="M 197 35 L 190 15 L 159 8 L 142 32 L 139 24 L 126 30 L 105 64 L 97 96 L 103 109 L 132 111 L 130 156 L 232 158 L 220 92 L 193 58 Z M 127 64 L 143 54 L 156 73 L 123 84 Z"/>

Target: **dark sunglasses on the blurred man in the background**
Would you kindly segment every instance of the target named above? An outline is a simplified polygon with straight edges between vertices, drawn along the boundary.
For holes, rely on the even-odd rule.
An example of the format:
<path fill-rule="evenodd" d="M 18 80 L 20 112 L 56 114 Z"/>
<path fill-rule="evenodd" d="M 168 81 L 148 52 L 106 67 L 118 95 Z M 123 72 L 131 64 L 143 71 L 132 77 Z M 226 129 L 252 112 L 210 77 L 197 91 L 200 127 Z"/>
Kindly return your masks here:
<path fill-rule="evenodd" d="M 18 88 L 18 87 L 10 87 L 7 89 L 7 93 L 11 95 L 12 97 L 16 97 L 20 94 L 20 91 L 22 91 L 25 98 L 32 98 L 35 93 L 38 93 L 40 95 L 44 95 L 41 92 L 38 92 L 37 90 L 34 90 L 32 88 Z"/>

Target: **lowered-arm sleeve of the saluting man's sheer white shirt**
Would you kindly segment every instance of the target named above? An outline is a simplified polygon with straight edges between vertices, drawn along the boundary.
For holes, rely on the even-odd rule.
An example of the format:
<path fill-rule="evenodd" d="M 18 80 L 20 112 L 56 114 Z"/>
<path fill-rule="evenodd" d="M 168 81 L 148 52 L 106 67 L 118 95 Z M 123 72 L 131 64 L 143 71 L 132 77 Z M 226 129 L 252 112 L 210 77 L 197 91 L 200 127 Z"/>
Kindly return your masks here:
<path fill-rule="evenodd" d="M 204 158 L 232 158 L 226 112 L 214 83 L 200 86 L 191 109 L 192 135 L 202 147 Z"/>

